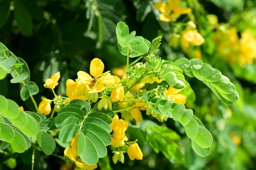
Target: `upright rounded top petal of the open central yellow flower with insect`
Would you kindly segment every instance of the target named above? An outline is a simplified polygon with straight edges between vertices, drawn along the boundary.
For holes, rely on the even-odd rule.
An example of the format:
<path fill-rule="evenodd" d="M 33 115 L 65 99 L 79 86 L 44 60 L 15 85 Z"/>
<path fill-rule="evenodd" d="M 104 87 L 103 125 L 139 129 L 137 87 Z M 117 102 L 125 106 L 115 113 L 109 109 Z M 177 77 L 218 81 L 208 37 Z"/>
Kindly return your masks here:
<path fill-rule="evenodd" d="M 104 70 L 104 64 L 99 58 L 94 58 L 90 64 L 90 74 L 94 78 L 99 78 Z"/>

